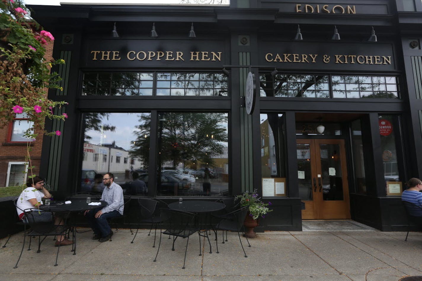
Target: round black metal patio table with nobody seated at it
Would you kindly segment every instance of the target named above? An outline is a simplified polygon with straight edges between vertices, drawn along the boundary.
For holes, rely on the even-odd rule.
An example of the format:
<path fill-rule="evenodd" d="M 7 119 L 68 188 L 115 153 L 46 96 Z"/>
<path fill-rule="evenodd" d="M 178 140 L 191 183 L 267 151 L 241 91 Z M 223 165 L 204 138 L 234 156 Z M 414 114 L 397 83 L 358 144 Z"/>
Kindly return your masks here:
<path fill-rule="evenodd" d="M 214 230 L 213 227 L 210 227 L 210 214 L 220 211 L 222 209 L 224 209 L 226 207 L 226 205 L 224 205 L 223 203 L 220 202 L 213 202 L 213 201 L 207 201 L 207 200 L 184 200 L 182 201 L 182 203 L 179 202 L 173 202 L 168 204 L 168 208 L 172 209 L 172 210 L 178 210 L 178 211 L 185 211 L 185 212 L 190 212 L 190 213 L 197 213 L 198 215 L 198 233 L 200 236 L 206 237 L 208 239 L 208 244 L 210 245 L 210 254 L 212 253 L 211 251 L 211 242 L 210 239 L 208 237 L 208 229 L 211 229 L 214 231 L 214 233 L 216 234 L 216 231 Z M 201 234 L 201 230 L 205 230 L 203 231 L 203 233 L 205 233 L 205 235 Z M 199 239 L 199 243 L 201 243 L 201 239 Z M 217 247 L 217 254 L 219 253 L 218 251 L 218 245 L 216 244 Z M 201 255 L 201 254 L 199 254 Z"/>

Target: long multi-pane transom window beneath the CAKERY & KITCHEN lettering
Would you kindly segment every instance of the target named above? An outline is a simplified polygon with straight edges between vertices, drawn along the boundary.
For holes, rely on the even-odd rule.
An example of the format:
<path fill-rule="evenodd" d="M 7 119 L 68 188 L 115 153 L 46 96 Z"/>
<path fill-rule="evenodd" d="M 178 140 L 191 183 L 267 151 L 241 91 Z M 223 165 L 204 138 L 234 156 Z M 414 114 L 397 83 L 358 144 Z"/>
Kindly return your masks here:
<path fill-rule="evenodd" d="M 395 76 L 276 74 L 260 75 L 261 97 L 384 98 L 399 97 Z"/>

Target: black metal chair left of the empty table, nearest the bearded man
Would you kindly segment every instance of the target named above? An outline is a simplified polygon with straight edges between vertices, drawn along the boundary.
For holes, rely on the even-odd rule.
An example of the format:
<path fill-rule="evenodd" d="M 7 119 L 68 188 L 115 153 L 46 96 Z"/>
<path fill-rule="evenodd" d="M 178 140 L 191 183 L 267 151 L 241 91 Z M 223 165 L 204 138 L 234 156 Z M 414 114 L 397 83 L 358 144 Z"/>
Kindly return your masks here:
<path fill-rule="evenodd" d="M 148 235 L 150 235 L 152 227 L 155 225 L 155 232 L 154 232 L 154 245 L 152 246 L 155 248 L 155 238 L 157 237 L 157 226 L 161 222 L 160 218 L 160 210 L 158 208 L 158 201 L 151 199 L 151 198 L 139 198 L 139 218 L 138 218 L 138 228 L 136 229 L 135 236 L 132 239 L 135 240 L 136 235 L 138 234 L 139 225 L 141 223 L 149 223 L 151 224 L 151 228 L 149 230 Z"/>

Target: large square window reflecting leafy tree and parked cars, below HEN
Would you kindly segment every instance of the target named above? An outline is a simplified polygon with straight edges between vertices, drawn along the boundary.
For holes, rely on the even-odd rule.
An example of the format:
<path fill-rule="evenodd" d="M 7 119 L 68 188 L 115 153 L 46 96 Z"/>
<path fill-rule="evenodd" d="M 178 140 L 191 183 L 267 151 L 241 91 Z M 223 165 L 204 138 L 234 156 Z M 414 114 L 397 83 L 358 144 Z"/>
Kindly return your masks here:
<path fill-rule="evenodd" d="M 157 195 L 229 195 L 227 113 L 160 112 Z"/>

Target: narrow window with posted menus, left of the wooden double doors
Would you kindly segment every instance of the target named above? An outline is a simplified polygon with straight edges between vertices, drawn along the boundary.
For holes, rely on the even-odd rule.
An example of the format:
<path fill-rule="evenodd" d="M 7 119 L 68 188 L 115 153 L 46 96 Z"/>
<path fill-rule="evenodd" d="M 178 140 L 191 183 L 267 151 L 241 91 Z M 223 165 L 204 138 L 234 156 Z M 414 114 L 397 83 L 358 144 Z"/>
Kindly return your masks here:
<path fill-rule="evenodd" d="M 261 113 L 262 196 L 287 196 L 286 132 L 283 113 Z"/>

